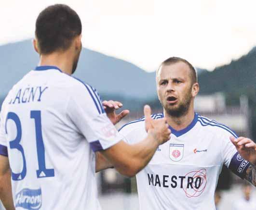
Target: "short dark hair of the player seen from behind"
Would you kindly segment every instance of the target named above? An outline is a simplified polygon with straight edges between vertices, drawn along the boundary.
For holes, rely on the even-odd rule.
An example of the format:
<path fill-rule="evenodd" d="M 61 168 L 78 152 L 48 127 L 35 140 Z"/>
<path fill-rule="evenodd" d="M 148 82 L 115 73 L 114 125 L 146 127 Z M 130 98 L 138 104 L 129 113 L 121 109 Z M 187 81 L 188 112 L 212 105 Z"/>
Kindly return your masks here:
<path fill-rule="evenodd" d="M 41 54 L 66 50 L 74 37 L 81 34 L 78 14 L 65 4 L 54 4 L 40 12 L 36 21 L 36 38 Z"/>

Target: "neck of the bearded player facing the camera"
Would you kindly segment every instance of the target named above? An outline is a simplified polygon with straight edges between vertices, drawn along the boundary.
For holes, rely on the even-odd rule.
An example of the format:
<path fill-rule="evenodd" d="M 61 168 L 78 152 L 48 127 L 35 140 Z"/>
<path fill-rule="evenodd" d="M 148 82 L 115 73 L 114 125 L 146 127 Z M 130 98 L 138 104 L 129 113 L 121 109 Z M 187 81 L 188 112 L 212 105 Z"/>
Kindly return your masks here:
<path fill-rule="evenodd" d="M 164 113 L 164 117 L 167 119 L 167 123 L 176 131 L 180 131 L 188 127 L 195 117 L 193 101 L 191 101 L 191 104 L 189 106 L 189 110 L 187 111 L 187 113 L 185 113 L 182 116 L 179 116 L 179 117 L 171 116 L 168 114 L 168 112 L 165 109 L 163 109 L 163 113 Z"/>

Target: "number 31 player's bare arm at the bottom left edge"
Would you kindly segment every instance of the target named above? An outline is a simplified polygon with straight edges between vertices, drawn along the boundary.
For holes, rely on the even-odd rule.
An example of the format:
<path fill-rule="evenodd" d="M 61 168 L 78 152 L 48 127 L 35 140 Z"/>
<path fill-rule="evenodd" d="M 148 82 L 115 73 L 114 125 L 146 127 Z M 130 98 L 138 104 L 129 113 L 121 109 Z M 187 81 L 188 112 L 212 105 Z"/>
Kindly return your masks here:
<path fill-rule="evenodd" d="M 2 201 L 6 210 L 15 210 L 13 204 L 10 170 L 0 175 L 0 200 Z"/>

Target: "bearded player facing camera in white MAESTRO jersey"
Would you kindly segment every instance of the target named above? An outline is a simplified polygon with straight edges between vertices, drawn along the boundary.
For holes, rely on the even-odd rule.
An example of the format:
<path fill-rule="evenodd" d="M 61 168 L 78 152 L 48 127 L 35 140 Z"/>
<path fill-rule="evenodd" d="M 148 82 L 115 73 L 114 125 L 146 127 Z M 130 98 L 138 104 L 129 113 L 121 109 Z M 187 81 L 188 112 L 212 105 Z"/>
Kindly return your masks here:
<path fill-rule="evenodd" d="M 152 118 L 165 117 L 172 134 L 136 175 L 140 210 L 215 210 L 214 193 L 223 164 L 256 185 L 256 144 L 194 112 L 199 84 L 193 66 L 169 58 L 158 69 L 156 82 L 163 113 Z M 103 101 L 103 105 L 109 110 L 115 102 Z M 125 124 L 119 133 L 135 144 L 147 135 L 144 126 L 142 118 Z"/>

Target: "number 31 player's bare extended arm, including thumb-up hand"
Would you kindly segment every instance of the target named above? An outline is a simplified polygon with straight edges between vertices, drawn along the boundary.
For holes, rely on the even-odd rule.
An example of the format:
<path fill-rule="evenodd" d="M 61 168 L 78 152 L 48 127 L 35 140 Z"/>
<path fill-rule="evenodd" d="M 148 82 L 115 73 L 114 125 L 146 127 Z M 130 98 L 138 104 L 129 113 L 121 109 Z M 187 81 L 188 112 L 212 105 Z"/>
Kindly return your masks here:
<path fill-rule="evenodd" d="M 120 141 L 100 151 L 119 173 L 126 176 L 135 176 L 151 160 L 156 148 L 170 139 L 171 131 L 165 118 L 152 120 L 149 106 L 145 106 L 144 114 L 146 131 L 148 131 L 148 136 L 144 140 L 134 145 Z"/>

